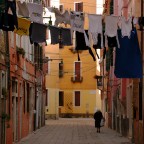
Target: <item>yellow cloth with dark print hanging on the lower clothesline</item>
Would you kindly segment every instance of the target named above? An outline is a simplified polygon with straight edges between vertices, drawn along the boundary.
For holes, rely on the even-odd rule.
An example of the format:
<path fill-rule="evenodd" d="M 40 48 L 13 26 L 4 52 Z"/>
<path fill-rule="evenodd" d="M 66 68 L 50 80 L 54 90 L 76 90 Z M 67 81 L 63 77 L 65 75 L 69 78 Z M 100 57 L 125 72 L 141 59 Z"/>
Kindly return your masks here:
<path fill-rule="evenodd" d="M 30 24 L 28 19 L 18 18 L 18 29 L 15 29 L 14 32 L 18 35 L 29 35 Z"/>

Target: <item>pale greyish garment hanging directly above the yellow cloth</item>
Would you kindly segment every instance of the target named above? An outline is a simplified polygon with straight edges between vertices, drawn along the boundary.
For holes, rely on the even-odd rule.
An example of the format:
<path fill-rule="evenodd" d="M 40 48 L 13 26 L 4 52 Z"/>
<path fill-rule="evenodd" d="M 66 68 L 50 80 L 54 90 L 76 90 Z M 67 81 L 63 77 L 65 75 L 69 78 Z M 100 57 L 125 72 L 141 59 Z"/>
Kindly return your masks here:
<path fill-rule="evenodd" d="M 18 15 L 28 18 L 29 11 L 28 11 L 27 4 L 25 2 L 21 3 L 20 1 L 18 1 L 17 5 L 18 5 Z"/>

